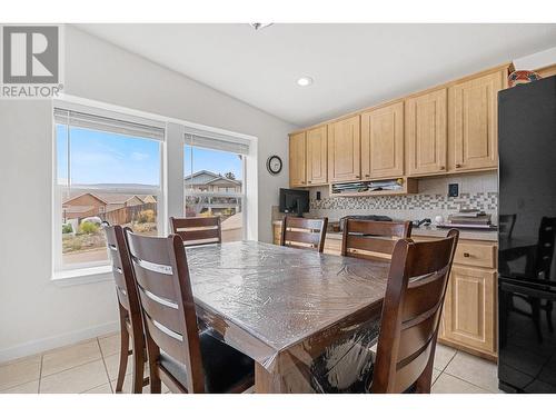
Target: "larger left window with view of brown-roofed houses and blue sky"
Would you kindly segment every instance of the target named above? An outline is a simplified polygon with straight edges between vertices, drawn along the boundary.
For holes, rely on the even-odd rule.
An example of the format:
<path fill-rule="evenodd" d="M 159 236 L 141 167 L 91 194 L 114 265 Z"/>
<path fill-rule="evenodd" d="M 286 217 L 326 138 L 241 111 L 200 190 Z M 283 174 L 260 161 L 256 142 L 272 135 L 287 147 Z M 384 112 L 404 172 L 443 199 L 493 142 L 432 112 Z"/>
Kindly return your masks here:
<path fill-rule="evenodd" d="M 108 265 L 101 221 L 157 235 L 162 127 L 54 109 L 56 269 Z"/>

